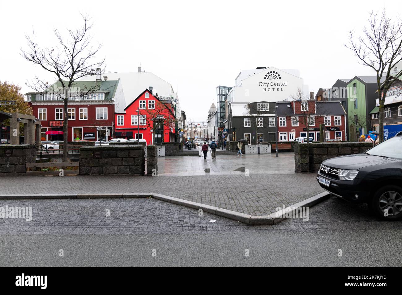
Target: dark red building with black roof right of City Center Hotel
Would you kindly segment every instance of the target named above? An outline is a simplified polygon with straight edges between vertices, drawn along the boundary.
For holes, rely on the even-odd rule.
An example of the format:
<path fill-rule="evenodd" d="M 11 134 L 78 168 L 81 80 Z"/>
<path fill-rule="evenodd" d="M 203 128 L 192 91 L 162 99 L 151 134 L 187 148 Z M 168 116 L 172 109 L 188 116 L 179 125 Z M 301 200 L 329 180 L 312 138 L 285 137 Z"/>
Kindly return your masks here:
<path fill-rule="evenodd" d="M 326 139 L 346 140 L 346 112 L 340 101 L 281 101 L 278 106 L 278 141 L 293 141 L 307 136 L 304 117 L 310 117 L 308 131 L 314 141 L 320 141 L 320 124 L 325 124 Z M 303 108 L 303 110 L 302 110 Z"/>

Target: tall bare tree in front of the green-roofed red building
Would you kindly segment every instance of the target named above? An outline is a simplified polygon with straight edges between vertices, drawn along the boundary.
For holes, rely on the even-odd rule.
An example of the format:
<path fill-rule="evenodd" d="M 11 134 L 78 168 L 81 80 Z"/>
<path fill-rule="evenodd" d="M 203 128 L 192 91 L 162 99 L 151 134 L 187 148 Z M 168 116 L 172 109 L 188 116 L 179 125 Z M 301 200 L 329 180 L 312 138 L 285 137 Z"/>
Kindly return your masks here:
<path fill-rule="evenodd" d="M 84 24 L 81 28 L 72 30 L 68 29 L 68 38 L 63 38 L 62 34 L 58 30 L 54 30 L 54 34 L 58 40 L 57 46 L 42 49 L 35 41 L 35 32 L 33 36 L 25 36 L 28 41 L 29 49 L 24 51 L 21 48 L 22 56 L 34 65 L 39 65 L 47 72 L 56 76 L 57 82 L 61 89 L 53 91 L 58 98 L 64 101 L 64 144 L 63 144 L 63 161 L 67 162 L 67 139 L 68 139 L 68 112 L 67 105 L 68 99 L 76 95 L 76 89 L 74 89 L 74 81 L 81 79 L 82 77 L 94 76 L 96 74 L 101 75 L 100 69 L 105 59 L 94 62 L 93 59 L 101 48 L 101 44 L 92 47 L 92 36 L 90 35 L 90 29 L 92 24 L 88 23 L 90 19 L 88 16 L 81 14 Z M 39 79 L 35 76 L 34 81 L 31 84 L 27 84 L 31 88 L 38 92 L 50 92 L 51 85 L 48 82 Z M 90 87 L 84 87 L 80 89 L 79 95 L 85 96 L 89 93 L 94 93 L 99 89 L 99 85 Z"/>

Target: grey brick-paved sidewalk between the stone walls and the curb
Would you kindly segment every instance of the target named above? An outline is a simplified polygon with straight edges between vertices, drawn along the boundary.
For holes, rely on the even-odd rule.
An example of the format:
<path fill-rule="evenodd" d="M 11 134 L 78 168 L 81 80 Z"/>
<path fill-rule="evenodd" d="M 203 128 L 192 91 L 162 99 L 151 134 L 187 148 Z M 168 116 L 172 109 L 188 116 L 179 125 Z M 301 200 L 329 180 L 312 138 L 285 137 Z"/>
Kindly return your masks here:
<path fill-rule="evenodd" d="M 158 193 L 251 215 L 266 215 L 320 192 L 315 174 L 4 177 L 0 194 Z"/>

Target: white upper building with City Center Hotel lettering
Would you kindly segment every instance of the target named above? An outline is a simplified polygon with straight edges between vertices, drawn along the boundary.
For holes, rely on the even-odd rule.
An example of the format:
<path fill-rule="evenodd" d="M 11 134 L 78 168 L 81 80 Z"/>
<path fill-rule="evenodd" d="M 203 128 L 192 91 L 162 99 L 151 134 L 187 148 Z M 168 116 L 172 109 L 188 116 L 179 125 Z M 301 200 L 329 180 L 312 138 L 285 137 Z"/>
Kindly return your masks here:
<path fill-rule="evenodd" d="M 304 85 L 298 70 L 275 67 L 243 70 L 236 77 L 235 87 L 228 93 L 228 104 L 293 100 L 291 97 L 298 89 L 308 93 L 308 85 Z"/>

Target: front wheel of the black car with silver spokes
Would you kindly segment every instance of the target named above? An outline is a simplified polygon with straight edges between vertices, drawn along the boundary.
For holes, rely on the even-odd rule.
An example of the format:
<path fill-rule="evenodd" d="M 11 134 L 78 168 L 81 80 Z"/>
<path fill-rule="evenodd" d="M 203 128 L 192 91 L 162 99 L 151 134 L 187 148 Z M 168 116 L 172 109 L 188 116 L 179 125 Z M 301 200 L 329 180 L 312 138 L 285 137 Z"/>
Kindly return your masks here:
<path fill-rule="evenodd" d="M 377 190 L 371 200 L 371 209 L 384 220 L 401 219 L 402 188 L 388 185 Z"/>

